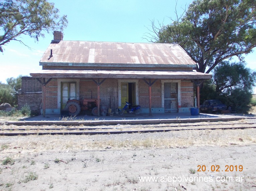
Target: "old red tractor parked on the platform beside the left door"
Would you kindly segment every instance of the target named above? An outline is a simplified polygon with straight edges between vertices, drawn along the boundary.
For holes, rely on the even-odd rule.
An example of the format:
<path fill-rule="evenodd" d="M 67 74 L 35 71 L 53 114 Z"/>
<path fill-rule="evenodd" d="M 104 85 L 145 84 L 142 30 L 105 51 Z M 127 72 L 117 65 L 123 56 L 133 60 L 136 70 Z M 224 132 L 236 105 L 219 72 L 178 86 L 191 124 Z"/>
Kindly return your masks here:
<path fill-rule="evenodd" d="M 98 115 L 97 99 L 71 99 L 67 101 L 65 109 L 69 111 L 69 115 L 78 115 L 81 110 L 91 111 L 93 115 Z"/>

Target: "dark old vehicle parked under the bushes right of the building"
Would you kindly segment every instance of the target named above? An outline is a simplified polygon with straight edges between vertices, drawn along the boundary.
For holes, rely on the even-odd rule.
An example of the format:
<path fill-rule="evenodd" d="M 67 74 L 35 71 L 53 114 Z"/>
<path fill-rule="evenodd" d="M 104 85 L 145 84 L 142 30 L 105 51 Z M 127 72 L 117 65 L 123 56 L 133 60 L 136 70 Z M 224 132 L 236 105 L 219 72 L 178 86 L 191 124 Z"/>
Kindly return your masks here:
<path fill-rule="evenodd" d="M 208 112 L 208 113 L 221 112 L 226 109 L 227 109 L 227 105 L 223 104 L 218 99 L 206 100 L 203 102 L 202 105 L 200 105 L 200 110 L 202 112 Z"/>

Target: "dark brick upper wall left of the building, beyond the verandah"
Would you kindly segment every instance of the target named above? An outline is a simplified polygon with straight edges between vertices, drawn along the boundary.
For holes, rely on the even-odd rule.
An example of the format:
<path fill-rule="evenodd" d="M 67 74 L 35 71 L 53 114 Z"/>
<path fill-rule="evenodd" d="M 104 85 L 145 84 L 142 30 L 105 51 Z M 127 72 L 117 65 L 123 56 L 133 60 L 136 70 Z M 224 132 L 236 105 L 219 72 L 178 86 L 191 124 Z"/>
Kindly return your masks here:
<path fill-rule="evenodd" d="M 42 85 L 36 78 L 21 77 L 21 93 L 27 92 L 42 92 Z"/>

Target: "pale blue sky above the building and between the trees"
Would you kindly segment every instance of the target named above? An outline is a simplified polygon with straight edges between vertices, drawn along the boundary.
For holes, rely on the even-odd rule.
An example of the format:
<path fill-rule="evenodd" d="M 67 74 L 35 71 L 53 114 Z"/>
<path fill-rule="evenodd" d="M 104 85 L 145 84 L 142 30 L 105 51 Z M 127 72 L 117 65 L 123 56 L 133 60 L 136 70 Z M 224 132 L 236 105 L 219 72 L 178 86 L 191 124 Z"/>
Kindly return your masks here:
<path fill-rule="evenodd" d="M 63 40 L 108 41 L 108 42 L 141 42 L 147 43 L 143 35 L 150 28 L 151 21 L 164 24 L 175 18 L 175 0 L 49 0 L 59 9 L 60 15 L 68 16 L 68 27 L 63 31 Z M 68 3 L 67 3 L 68 2 Z M 72 2 L 72 3 L 71 3 Z M 177 12 L 181 14 L 185 5 L 192 0 L 178 0 Z M 53 35 L 45 34 L 35 42 L 28 36 L 21 36 L 26 46 L 16 41 L 3 46 L 0 53 L 0 82 L 19 75 L 29 76 L 41 70 L 39 60 L 53 39 Z M 247 67 L 256 70 L 256 52 L 246 56 Z M 256 89 L 254 91 L 256 93 Z"/>

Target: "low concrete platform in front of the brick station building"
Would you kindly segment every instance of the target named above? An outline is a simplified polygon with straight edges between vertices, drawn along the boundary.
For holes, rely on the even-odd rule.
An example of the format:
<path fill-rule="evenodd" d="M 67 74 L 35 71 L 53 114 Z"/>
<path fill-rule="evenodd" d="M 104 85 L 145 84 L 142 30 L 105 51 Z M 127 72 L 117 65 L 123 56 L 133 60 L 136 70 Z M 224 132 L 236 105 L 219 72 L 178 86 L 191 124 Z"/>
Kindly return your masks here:
<path fill-rule="evenodd" d="M 124 114 L 113 116 L 79 115 L 75 117 L 61 117 L 60 115 L 42 115 L 23 118 L 19 121 L 6 121 L 6 125 L 115 125 L 115 124 L 157 124 L 157 123 L 188 123 L 232 121 L 240 119 L 256 119 L 255 115 L 239 114 L 205 114 L 192 116 L 190 113 L 148 113 Z"/>

